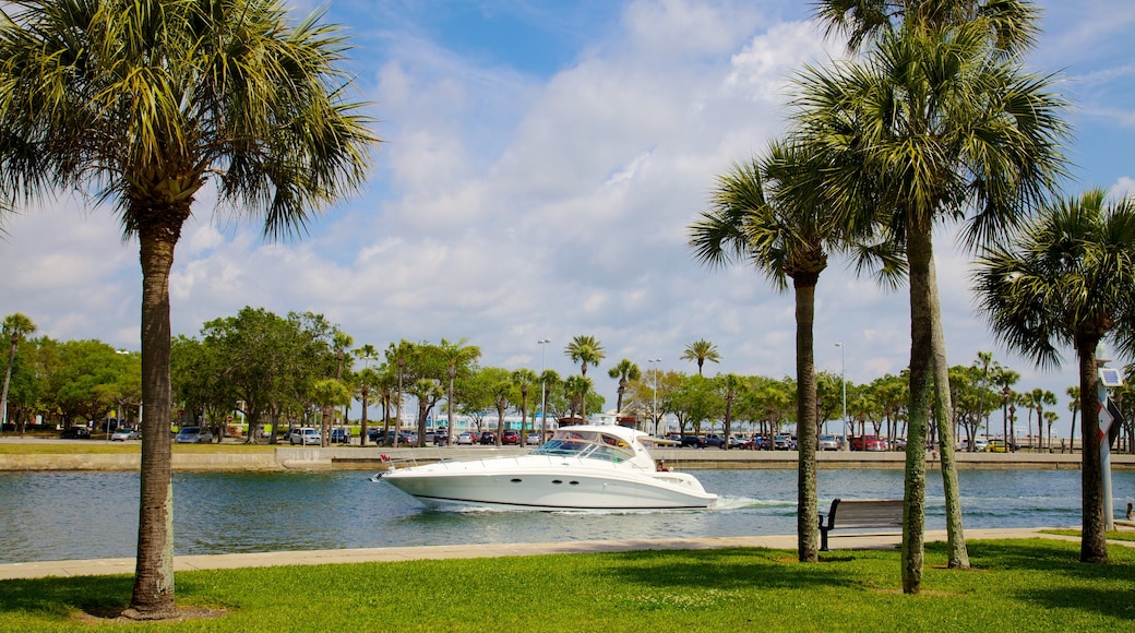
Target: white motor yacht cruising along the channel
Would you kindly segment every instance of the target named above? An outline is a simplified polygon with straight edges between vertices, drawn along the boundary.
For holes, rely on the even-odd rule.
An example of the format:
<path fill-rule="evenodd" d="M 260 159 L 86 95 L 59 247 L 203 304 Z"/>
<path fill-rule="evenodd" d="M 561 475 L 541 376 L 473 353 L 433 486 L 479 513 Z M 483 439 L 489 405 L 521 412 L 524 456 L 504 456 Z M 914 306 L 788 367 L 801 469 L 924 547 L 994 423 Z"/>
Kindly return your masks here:
<path fill-rule="evenodd" d="M 650 455 L 647 433 L 565 427 L 526 455 L 392 467 L 376 475 L 434 506 L 524 510 L 705 509 L 717 495 Z"/>

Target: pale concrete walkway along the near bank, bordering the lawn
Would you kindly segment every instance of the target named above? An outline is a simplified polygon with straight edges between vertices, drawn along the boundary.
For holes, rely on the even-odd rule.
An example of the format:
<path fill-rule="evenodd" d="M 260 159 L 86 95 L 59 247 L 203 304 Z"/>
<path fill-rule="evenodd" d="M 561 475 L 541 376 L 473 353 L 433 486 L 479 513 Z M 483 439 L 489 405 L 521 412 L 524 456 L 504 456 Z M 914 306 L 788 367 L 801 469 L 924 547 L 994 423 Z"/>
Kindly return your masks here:
<path fill-rule="evenodd" d="M 1135 528 L 1117 526 L 1125 531 Z M 1042 534 L 1043 528 L 966 530 L 967 540 L 986 539 L 1060 539 L 1078 542 L 1075 537 Z M 839 533 L 830 537 L 830 546 L 838 549 L 892 549 L 899 546 L 901 534 Z M 944 541 L 944 530 L 926 532 L 926 542 Z M 1132 541 L 1110 541 L 1109 545 L 1135 547 Z M 721 549 L 732 547 L 766 547 L 796 549 L 794 534 L 771 537 L 720 537 L 703 539 L 659 539 L 620 541 L 571 541 L 560 543 L 482 543 L 429 547 L 382 547 L 368 549 L 330 549 L 318 551 L 267 551 L 258 554 L 215 554 L 177 556 L 174 571 L 233 569 L 238 567 L 276 567 L 283 565 L 331 565 L 337 563 L 376 563 L 423 560 L 439 558 L 489 558 L 498 556 L 536 556 L 541 554 L 583 554 L 598 551 L 641 551 L 667 549 Z M 48 560 L 0 565 L 0 580 L 35 579 L 45 576 L 91 576 L 133 574 L 133 558 L 104 558 L 92 560 Z"/>

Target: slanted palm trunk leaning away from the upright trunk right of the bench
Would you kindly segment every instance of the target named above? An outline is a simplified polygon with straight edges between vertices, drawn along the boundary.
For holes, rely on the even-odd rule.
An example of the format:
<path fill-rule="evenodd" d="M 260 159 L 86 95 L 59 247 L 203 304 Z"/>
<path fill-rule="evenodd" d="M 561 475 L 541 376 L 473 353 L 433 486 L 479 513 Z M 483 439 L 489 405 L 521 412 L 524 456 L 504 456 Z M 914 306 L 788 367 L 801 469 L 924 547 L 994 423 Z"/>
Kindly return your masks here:
<path fill-rule="evenodd" d="M 934 255 L 930 259 L 931 345 L 934 346 L 934 399 L 938 434 L 941 442 L 942 492 L 945 497 L 945 533 L 951 569 L 969 568 L 966 532 L 961 524 L 961 492 L 958 489 L 958 464 L 953 457 L 953 404 L 950 398 L 950 365 L 945 358 L 945 334 L 942 331 L 942 304 L 938 294 L 938 270 Z M 925 445 L 923 445 L 925 446 Z M 923 448 L 925 450 L 925 448 Z"/>

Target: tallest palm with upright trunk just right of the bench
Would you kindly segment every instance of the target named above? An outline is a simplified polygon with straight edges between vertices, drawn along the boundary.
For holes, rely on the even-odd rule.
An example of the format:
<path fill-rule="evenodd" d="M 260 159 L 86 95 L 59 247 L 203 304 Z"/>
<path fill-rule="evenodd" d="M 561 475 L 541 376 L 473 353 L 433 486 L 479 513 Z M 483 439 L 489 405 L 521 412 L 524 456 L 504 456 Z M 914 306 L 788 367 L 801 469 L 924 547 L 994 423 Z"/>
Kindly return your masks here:
<path fill-rule="evenodd" d="M 1022 69 L 1020 53 L 1036 32 L 1029 2 L 999 3 L 1017 7 L 1015 12 L 977 10 L 972 0 L 851 3 L 882 10 L 856 14 L 846 10 L 847 0 L 821 0 L 817 14 L 830 27 L 851 33 L 854 44 L 868 44 L 865 54 L 830 70 L 802 73 L 793 119 L 809 154 L 829 166 L 825 183 L 838 214 L 885 214 L 906 250 L 911 344 L 902 586 L 917 593 L 924 558 L 923 446 L 934 385 L 938 417 L 952 417 L 944 411 L 948 365 L 933 229 L 961 221 L 961 243 L 977 247 L 1037 206 L 1066 174 L 1060 153 L 1065 102 L 1050 91 L 1051 78 Z M 831 19 L 833 7 L 844 8 L 839 15 L 846 24 Z M 947 451 L 943 447 L 943 458 Z M 960 514 L 950 508 L 948 514 L 957 517 L 957 524 L 949 523 L 950 564 L 968 565 L 968 556 L 960 558 L 964 543 L 955 541 L 961 537 Z"/>

